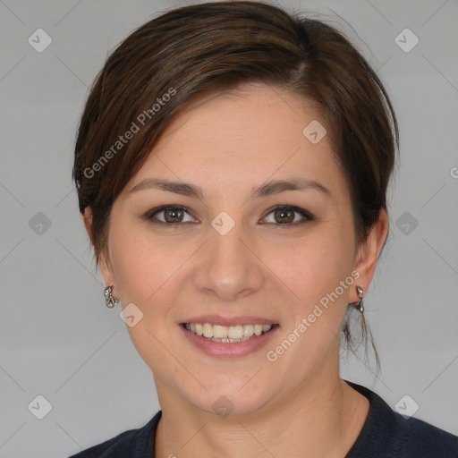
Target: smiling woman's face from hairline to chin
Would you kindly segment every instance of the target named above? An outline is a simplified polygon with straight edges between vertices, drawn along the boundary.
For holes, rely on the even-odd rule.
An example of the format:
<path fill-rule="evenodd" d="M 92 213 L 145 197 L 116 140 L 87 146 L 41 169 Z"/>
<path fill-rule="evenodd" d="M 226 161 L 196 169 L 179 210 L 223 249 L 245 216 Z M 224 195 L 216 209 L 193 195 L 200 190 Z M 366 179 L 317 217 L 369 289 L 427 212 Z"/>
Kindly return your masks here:
<path fill-rule="evenodd" d="M 323 127 L 305 100 L 245 85 L 179 114 L 115 200 L 102 273 L 164 403 L 248 413 L 335 383 L 373 266 Z"/>

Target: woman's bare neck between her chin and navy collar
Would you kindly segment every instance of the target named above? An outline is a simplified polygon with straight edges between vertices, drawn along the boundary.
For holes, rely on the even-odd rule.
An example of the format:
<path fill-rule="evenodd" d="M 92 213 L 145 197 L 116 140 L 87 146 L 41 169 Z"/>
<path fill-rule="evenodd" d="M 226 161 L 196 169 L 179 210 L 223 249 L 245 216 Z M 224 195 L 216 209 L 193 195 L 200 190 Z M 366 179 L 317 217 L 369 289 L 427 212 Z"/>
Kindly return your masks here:
<path fill-rule="evenodd" d="M 167 397 L 159 396 L 163 413 L 157 427 L 157 458 L 191 458 L 196 451 L 221 458 L 344 458 L 369 411 L 369 401 L 338 373 L 315 377 L 249 415 L 220 418 L 195 407 L 183 408 Z"/>

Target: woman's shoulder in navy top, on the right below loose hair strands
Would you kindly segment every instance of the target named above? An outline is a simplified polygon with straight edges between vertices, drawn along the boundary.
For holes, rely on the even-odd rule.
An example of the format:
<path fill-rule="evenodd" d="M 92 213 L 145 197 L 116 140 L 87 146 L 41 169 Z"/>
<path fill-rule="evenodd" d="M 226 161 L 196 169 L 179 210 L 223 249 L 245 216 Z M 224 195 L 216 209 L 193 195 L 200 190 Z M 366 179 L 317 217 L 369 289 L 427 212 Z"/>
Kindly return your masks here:
<path fill-rule="evenodd" d="M 345 380 L 369 399 L 369 414 L 345 458 L 456 458 L 458 437 L 426 421 L 393 411 L 376 393 Z"/>

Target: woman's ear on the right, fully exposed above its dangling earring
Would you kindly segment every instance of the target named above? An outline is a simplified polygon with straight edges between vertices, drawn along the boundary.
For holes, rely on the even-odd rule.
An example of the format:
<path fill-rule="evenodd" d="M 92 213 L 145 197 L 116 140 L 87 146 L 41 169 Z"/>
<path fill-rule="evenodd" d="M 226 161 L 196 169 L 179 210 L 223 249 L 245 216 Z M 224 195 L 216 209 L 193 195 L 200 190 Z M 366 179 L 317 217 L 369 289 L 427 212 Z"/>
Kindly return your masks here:
<path fill-rule="evenodd" d="M 380 210 L 377 223 L 372 227 L 365 242 L 360 245 L 355 258 L 353 270 L 360 273 L 355 285 L 360 286 L 366 293 L 376 271 L 377 259 L 386 241 L 388 233 L 388 215 L 385 208 Z M 356 289 L 355 289 L 356 290 Z M 350 301 L 359 301 L 356 291 L 352 290 Z"/>

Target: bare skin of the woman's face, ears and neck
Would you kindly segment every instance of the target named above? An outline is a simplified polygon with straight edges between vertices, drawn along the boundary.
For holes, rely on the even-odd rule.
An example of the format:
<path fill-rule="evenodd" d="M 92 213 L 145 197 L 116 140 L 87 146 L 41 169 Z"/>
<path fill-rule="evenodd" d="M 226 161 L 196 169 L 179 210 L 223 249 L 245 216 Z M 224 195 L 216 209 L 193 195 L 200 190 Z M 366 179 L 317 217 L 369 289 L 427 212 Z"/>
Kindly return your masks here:
<path fill-rule="evenodd" d="M 348 303 L 358 301 L 355 285 L 369 288 L 388 221 L 382 210 L 357 245 L 349 188 L 330 136 L 312 144 L 302 134 L 316 119 L 326 125 L 307 100 L 265 85 L 203 98 L 174 118 L 114 202 L 100 268 L 123 307 L 133 302 L 143 313 L 127 329 L 154 374 L 163 410 L 159 457 L 199 450 L 200 456 L 342 458 L 360 433 L 369 402 L 339 377 L 338 335 Z M 253 187 L 293 176 L 320 182 L 329 193 L 310 188 L 249 199 Z M 204 199 L 130 192 L 152 177 L 199 185 Z M 145 218 L 165 204 L 190 209 L 179 215 L 181 225 Z M 293 213 L 293 222 L 281 225 L 272 209 L 282 204 L 315 219 Z M 211 225 L 221 211 L 235 222 L 225 235 Z M 156 217 L 164 221 L 165 213 Z M 89 209 L 84 222 L 90 233 Z M 358 280 L 275 362 L 267 360 L 266 352 L 353 271 Z M 178 326 L 207 314 L 263 317 L 280 327 L 262 350 L 218 359 L 190 344 Z M 233 404 L 225 418 L 212 409 L 221 395 Z"/>

